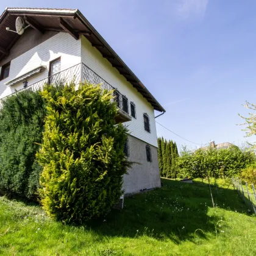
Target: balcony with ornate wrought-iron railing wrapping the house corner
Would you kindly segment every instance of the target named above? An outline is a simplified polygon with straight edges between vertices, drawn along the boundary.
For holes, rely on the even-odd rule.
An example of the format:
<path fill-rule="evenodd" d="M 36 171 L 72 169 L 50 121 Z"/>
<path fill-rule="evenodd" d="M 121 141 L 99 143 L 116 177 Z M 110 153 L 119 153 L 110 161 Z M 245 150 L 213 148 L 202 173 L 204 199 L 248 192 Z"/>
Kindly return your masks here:
<path fill-rule="evenodd" d="M 113 101 L 116 102 L 116 105 L 118 107 L 118 115 L 115 118 L 116 123 L 124 123 L 132 120 L 131 116 L 129 115 L 129 101 L 126 98 L 126 96 L 121 94 L 116 88 L 112 87 L 112 85 L 108 84 L 108 82 L 102 79 L 93 70 L 88 68 L 88 66 L 84 63 L 79 63 L 75 66 L 72 66 L 71 68 L 65 69 L 57 74 L 54 74 L 53 76 L 49 76 L 42 80 L 39 80 L 38 82 L 32 85 L 28 85 L 26 88 L 16 91 L 15 93 L 12 93 L 10 95 L 16 94 L 24 90 L 42 90 L 45 84 L 69 84 L 73 82 L 75 85 L 78 85 L 80 81 L 87 81 L 90 84 L 95 85 L 101 84 L 101 87 L 103 89 L 113 90 Z M 8 96 L 0 99 L 0 107 L 2 105 L 2 101 L 7 97 Z"/>

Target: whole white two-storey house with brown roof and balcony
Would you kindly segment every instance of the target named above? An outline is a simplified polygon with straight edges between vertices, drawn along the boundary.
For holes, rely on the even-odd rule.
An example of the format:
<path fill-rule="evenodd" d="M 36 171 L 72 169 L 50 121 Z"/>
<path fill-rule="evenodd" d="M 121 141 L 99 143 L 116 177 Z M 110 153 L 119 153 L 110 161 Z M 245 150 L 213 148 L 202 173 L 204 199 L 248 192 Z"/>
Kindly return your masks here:
<path fill-rule="evenodd" d="M 13 32 L 18 17 L 24 23 L 21 35 Z M 125 152 L 135 162 L 124 176 L 125 193 L 160 187 L 155 110 L 165 110 L 79 10 L 5 9 L 0 67 L 1 99 L 46 83 L 87 80 L 115 89 L 116 122 L 129 129 Z"/>

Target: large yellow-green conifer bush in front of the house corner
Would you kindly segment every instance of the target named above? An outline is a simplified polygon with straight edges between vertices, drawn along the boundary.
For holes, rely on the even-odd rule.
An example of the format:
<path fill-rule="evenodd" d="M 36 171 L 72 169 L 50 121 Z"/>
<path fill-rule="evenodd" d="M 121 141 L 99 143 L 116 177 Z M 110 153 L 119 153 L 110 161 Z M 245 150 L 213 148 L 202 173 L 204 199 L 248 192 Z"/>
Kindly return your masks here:
<path fill-rule="evenodd" d="M 82 223 L 107 213 L 123 193 L 127 130 L 115 125 L 112 93 L 99 86 L 65 87 L 59 97 L 43 91 L 47 102 L 40 199 L 46 212 L 66 223 Z"/>

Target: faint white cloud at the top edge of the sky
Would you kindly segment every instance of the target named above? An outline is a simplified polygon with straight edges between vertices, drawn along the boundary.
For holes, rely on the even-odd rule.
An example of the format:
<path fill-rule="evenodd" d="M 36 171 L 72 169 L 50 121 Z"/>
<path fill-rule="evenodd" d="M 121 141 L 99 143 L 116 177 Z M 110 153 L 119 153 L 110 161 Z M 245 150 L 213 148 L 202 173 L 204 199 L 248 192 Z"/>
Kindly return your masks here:
<path fill-rule="evenodd" d="M 203 17 L 207 9 L 208 0 L 179 0 L 177 5 L 177 12 L 181 18 Z"/>

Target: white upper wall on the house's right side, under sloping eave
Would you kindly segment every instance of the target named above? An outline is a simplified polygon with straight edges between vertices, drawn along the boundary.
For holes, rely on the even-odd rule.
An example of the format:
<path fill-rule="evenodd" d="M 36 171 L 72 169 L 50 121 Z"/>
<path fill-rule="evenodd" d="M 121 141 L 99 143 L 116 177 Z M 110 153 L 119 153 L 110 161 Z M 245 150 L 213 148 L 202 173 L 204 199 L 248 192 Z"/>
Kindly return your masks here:
<path fill-rule="evenodd" d="M 132 121 L 127 122 L 130 134 L 140 140 L 145 141 L 157 147 L 157 130 L 155 127 L 154 108 L 149 104 L 138 91 L 132 87 L 132 84 L 127 82 L 126 78 L 119 74 L 116 68 L 113 68 L 107 59 L 103 58 L 101 53 L 91 46 L 90 41 L 84 36 L 82 41 L 82 62 L 91 68 L 95 73 L 102 77 L 108 84 L 118 88 L 120 93 L 126 95 L 129 100 L 129 115 L 130 101 L 136 105 L 137 119 L 132 118 Z M 151 126 L 151 133 L 144 130 L 143 113 L 148 113 Z"/>

